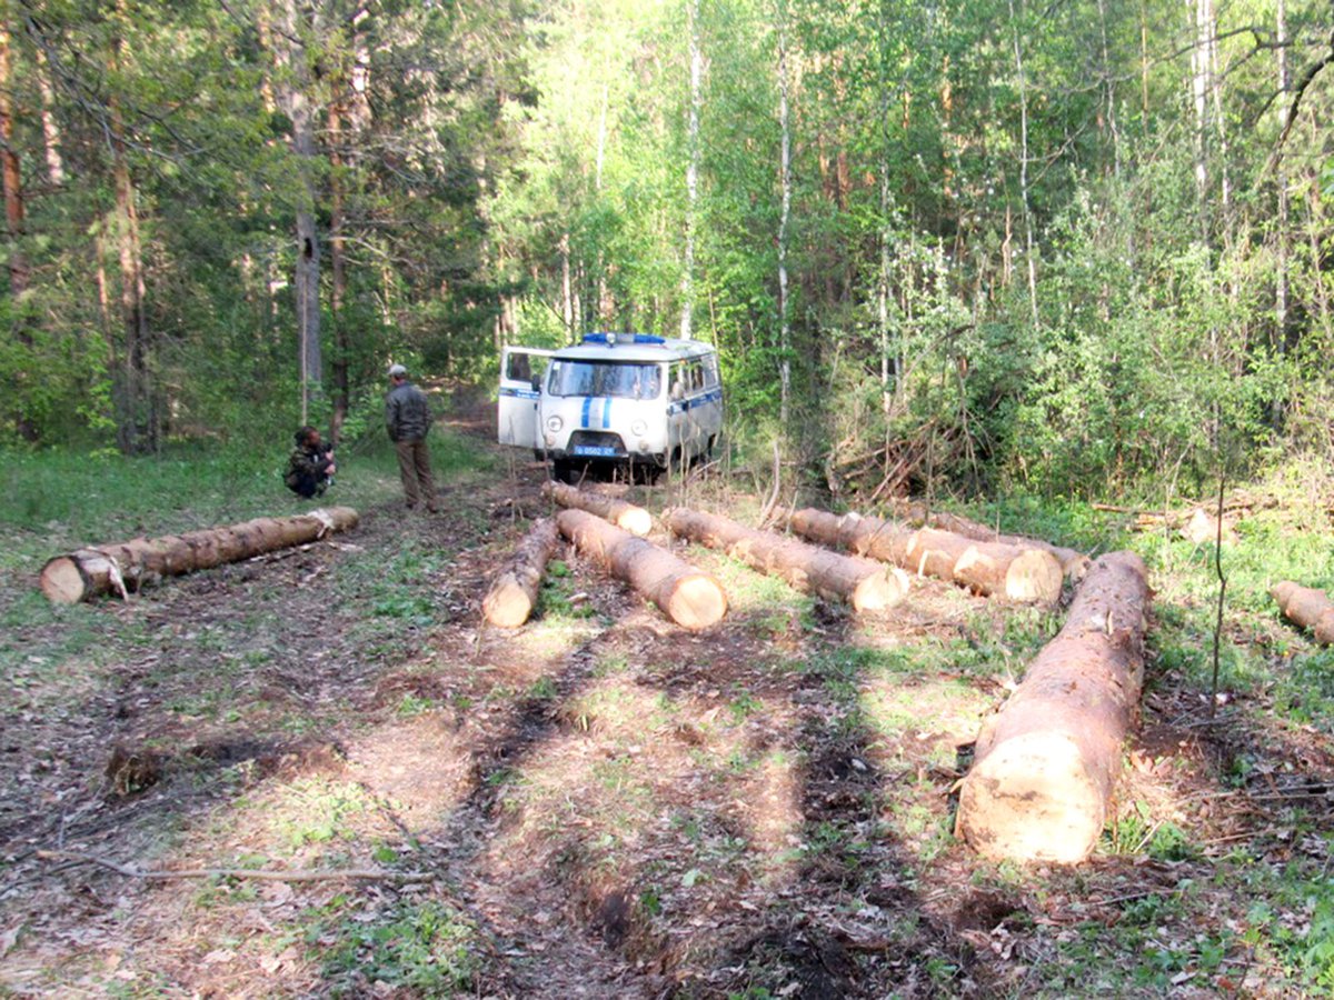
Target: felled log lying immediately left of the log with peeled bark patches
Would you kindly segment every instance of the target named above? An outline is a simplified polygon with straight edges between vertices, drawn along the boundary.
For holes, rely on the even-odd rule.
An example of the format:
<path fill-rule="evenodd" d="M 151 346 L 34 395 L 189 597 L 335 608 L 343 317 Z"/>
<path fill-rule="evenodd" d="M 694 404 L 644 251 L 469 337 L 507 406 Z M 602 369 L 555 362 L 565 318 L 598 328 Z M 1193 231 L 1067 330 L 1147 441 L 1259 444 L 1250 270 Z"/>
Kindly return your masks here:
<path fill-rule="evenodd" d="M 847 601 L 858 612 L 883 611 L 908 592 L 908 579 L 902 571 L 747 528 L 727 517 L 678 508 L 668 516 L 667 527 L 674 535 L 723 549 L 747 565 L 780 576 L 799 591 Z"/>

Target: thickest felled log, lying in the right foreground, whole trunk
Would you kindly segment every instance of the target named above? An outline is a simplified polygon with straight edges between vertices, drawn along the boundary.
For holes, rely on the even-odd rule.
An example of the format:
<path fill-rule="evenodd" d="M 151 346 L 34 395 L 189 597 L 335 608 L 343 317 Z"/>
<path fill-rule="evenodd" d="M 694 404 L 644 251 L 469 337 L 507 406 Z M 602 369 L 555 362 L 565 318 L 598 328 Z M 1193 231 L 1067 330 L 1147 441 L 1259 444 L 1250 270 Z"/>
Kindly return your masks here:
<path fill-rule="evenodd" d="M 978 853 L 1078 863 L 1107 821 L 1145 669 L 1145 564 L 1098 559 L 1065 627 L 978 736 L 956 831 Z"/>

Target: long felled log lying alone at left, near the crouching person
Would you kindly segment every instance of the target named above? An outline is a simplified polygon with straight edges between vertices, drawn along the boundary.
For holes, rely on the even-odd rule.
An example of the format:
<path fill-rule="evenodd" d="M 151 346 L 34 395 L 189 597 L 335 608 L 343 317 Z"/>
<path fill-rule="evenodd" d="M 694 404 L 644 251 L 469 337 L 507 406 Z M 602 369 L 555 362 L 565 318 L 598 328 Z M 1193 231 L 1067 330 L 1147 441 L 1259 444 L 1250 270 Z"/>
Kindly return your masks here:
<path fill-rule="evenodd" d="M 41 569 L 41 592 L 57 604 L 76 604 L 99 595 L 128 595 L 164 576 L 212 569 L 223 563 L 315 541 L 356 527 L 356 511 L 331 507 L 295 517 L 256 517 L 224 528 L 133 539 L 56 556 Z"/>

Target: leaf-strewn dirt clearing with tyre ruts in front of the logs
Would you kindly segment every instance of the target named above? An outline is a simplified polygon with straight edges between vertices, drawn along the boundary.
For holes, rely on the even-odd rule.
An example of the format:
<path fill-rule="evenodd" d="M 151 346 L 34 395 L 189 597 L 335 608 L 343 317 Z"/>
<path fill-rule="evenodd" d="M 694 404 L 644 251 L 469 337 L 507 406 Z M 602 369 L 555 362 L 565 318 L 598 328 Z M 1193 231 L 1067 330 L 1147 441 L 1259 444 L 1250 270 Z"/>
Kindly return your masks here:
<path fill-rule="evenodd" d="M 490 441 L 487 417 L 464 429 Z M 41 663 L 0 716 L 0 993 L 1287 991 L 1223 861 L 1327 868 L 1289 808 L 1327 817 L 1315 731 L 1261 704 L 1209 724 L 1151 664 L 1122 843 L 1070 871 L 987 865 L 952 837 L 955 784 L 1059 611 L 920 581 L 859 621 L 690 548 L 732 600 L 702 635 L 570 552 L 538 619 L 483 628 L 546 511 L 542 467 L 500 467 L 446 484 L 434 517 L 384 503 L 332 541 L 85 609 L 81 643 L 15 637 Z M 707 475 L 634 496 L 755 507 Z M 1150 849 L 1166 828 L 1190 849 Z"/>

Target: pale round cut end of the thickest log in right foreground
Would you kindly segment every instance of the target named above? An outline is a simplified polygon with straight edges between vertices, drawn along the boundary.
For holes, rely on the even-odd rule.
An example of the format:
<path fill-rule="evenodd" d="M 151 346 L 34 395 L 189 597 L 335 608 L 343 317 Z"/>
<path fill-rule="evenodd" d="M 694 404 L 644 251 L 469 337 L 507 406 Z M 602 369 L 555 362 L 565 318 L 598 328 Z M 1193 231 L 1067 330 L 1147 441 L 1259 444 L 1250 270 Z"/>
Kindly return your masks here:
<path fill-rule="evenodd" d="M 1106 821 L 1077 740 L 1029 732 L 996 745 L 963 780 L 958 829 L 983 857 L 1078 864 Z"/>

